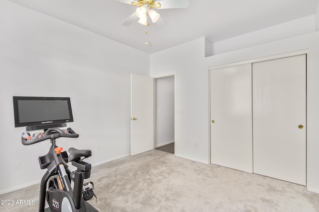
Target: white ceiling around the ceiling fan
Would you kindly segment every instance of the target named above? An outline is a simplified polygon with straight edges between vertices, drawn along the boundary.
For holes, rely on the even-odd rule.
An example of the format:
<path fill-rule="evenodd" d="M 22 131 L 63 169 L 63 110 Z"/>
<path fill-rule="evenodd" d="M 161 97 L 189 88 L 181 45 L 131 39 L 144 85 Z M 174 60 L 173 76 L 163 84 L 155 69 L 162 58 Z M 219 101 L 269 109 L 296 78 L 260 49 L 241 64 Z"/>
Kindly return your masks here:
<path fill-rule="evenodd" d="M 136 6 L 116 0 L 10 0 L 147 53 L 202 36 L 211 42 L 316 13 L 318 0 L 189 0 L 188 8 L 160 9 L 167 26 L 121 23 Z M 151 46 L 144 45 L 150 42 Z"/>

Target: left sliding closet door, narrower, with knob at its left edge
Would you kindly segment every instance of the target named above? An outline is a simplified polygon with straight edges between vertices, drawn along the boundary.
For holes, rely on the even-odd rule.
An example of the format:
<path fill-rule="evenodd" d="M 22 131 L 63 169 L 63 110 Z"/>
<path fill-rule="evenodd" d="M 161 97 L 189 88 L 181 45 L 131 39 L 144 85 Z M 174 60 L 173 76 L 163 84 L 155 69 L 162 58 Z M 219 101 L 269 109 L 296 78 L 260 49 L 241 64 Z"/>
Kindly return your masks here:
<path fill-rule="evenodd" d="M 251 64 L 210 71 L 211 163 L 252 173 Z"/>

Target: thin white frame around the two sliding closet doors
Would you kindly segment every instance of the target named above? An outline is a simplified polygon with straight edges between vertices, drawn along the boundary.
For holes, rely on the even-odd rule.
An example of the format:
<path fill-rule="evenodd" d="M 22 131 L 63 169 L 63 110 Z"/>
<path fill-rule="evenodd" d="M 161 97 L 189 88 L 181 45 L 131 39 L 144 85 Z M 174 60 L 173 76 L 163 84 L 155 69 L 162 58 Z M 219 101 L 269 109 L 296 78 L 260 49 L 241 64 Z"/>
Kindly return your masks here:
<path fill-rule="evenodd" d="M 267 57 L 262 57 L 262 58 L 256 58 L 256 59 L 251 59 L 251 60 L 246 60 L 246 61 L 240 61 L 240 62 L 235 62 L 235 63 L 230 63 L 230 64 L 223 64 L 223 65 L 218 65 L 218 66 L 212 66 L 208 68 L 208 79 L 209 79 L 209 90 L 208 90 L 208 94 L 209 94 L 209 114 L 208 114 L 208 129 L 209 129 L 209 155 L 208 155 L 208 159 L 209 159 L 209 163 L 211 163 L 211 135 L 210 135 L 210 72 L 212 70 L 216 70 L 216 69 L 221 69 L 221 68 L 227 68 L 227 67 L 232 67 L 232 66 L 239 66 L 239 65 L 244 65 L 244 64 L 253 64 L 253 63 L 257 63 L 257 62 L 263 62 L 263 61 L 269 61 L 269 60 L 274 60 L 274 59 L 280 59 L 280 58 L 286 58 L 286 57 L 291 57 L 291 56 L 297 56 L 297 55 L 307 55 L 309 53 L 308 49 L 304 49 L 304 50 L 299 50 L 299 51 L 294 51 L 294 52 L 288 52 L 288 53 L 283 53 L 283 54 L 278 54 L 278 55 L 272 55 L 272 56 L 267 56 Z M 307 60 L 306 60 L 306 67 L 307 67 Z M 307 70 L 306 70 L 307 73 Z M 306 75 L 306 81 L 307 81 L 307 75 Z M 306 91 L 307 91 L 307 83 L 306 83 Z M 307 94 L 306 94 L 306 101 L 307 101 Z M 308 109 L 308 104 L 306 102 L 306 126 L 307 126 L 307 109 Z M 307 135 L 308 135 L 308 128 L 306 128 L 306 183 L 308 182 L 308 143 L 307 143 Z"/>

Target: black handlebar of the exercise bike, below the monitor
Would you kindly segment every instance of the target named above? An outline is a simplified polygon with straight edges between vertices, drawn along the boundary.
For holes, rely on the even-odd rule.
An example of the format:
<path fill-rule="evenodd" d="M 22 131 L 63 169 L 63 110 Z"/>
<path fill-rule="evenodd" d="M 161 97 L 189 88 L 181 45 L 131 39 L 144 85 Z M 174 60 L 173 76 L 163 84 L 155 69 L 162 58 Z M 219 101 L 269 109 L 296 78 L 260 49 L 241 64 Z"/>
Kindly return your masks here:
<path fill-rule="evenodd" d="M 45 131 L 44 136 L 41 138 L 37 139 L 24 139 L 23 137 L 21 138 L 22 144 L 23 145 L 30 145 L 34 144 L 40 141 L 45 141 L 48 139 L 57 139 L 60 137 L 66 137 L 66 138 L 78 138 L 79 134 L 76 134 L 71 128 L 67 129 L 70 133 L 64 133 L 61 129 L 59 128 L 49 128 Z M 52 132 L 52 133 L 51 133 Z"/>

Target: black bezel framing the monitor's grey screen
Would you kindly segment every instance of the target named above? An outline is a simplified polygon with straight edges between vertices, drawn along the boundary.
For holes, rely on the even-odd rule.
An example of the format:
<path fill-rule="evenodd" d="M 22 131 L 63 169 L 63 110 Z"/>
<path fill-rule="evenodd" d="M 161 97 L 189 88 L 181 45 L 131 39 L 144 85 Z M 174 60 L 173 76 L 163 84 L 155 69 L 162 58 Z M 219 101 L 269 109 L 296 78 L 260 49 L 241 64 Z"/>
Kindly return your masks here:
<path fill-rule="evenodd" d="M 41 120 L 35 122 L 19 122 L 19 108 L 18 108 L 18 101 L 19 100 L 62 100 L 67 101 L 68 110 L 69 110 L 69 119 L 60 119 L 60 120 Z M 71 108 L 71 100 L 70 97 L 35 97 L 35 96 L 13 96 L 13 111 L 14 111 L 14 126 L 15 127 L 31 127 L 31 126 L 47 126 L 47 125 L 56 125 L 62 123 L 69 123 L 73 122 L 73 114 Z"/>

